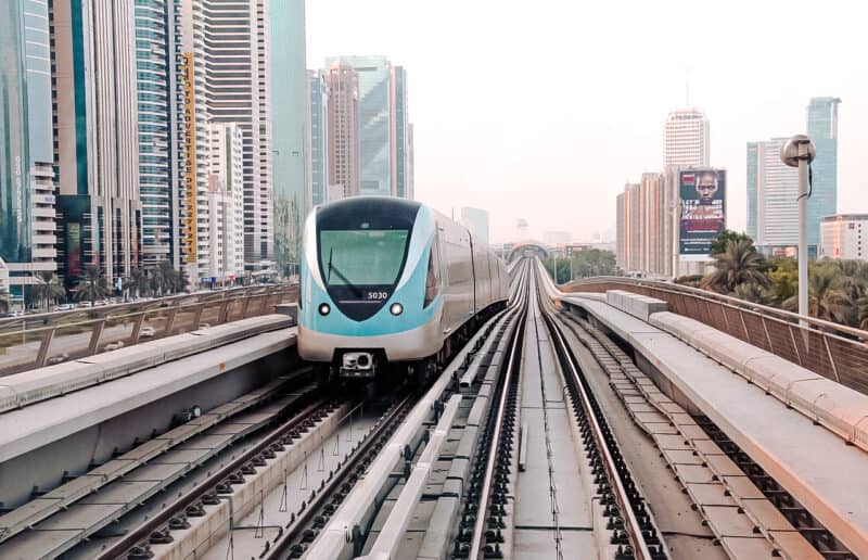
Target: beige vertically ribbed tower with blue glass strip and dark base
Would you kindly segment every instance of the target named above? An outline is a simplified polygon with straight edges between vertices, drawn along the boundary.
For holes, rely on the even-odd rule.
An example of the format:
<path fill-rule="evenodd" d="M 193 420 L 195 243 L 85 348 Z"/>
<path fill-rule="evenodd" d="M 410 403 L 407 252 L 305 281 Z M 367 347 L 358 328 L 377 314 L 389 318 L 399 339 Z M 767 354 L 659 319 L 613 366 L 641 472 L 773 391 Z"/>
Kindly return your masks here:
<path fill-rule="evenodd" d="M 132 0 L 50 3 L 59 269 L 67 280 L 98 265 L 114 283 L 140 263 L 132 22 Z"/>

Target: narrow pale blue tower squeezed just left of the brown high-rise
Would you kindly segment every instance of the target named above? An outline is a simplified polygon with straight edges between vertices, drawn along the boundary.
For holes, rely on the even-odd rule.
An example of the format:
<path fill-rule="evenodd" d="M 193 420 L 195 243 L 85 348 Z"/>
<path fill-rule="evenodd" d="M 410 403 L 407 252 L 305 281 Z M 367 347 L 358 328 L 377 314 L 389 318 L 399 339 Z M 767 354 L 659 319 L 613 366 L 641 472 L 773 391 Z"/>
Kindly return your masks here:
<path fill-rule="evenodd" d="M 329 94 L 326 74 L 308 71 L 310 90 L 310 168 L 311 205 L 317 206 L 329 200 Z"/>

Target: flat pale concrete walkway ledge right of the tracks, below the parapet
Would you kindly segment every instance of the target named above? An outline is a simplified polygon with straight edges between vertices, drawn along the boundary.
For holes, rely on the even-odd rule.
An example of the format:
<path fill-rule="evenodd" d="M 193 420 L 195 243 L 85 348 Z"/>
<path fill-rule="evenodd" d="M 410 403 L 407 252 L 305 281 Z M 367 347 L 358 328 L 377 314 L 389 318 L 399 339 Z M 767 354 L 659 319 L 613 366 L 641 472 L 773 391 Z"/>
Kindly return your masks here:
<path fill-rule="evenodd" d="M 561 302 L 593 317 L 631 345 L 655 370 L 652 377 L 664 393 L 711 418 L 845 546 L 868 556 L 868 502 L 864 499 L 868 455 L 864 450 L 842 445 L 840 436 L 817 428 L 763 389 L 745 384 L 681 340 L 600 300 L 569 295 Z M 653 322 L 659 315 L 652 311 L 649 318 Z M 832 468 L 834 475 L 829 476 Z"/>

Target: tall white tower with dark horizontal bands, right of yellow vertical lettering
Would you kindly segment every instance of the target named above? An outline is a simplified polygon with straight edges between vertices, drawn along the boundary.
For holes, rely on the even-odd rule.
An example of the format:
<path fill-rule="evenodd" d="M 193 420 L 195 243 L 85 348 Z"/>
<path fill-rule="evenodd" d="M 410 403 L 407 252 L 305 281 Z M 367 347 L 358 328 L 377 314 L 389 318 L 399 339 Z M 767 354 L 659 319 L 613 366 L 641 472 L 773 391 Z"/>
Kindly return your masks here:
<path fill-rule="evenodd" d="M 215 123 L 238 123 L 244 138 L 245 268 L 268 268 L 272 251 L 268 2 L 186 1 L 193 4 L 194 59 L 204 62 L 207 115 Z M 202 44 L 197 44 L 199 28 Z"/>

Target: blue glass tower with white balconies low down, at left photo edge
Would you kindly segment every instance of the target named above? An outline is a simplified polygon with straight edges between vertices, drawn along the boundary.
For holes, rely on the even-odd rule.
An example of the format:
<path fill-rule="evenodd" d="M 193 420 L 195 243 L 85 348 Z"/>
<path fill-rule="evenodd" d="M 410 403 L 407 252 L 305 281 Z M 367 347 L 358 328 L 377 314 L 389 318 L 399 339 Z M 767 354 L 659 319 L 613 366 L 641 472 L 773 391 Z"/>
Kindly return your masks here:
<path fill-rule="evenodd" d="M 43 1 L 0 5 L 0 290 L 56 270 L 51 48 Z"/>

